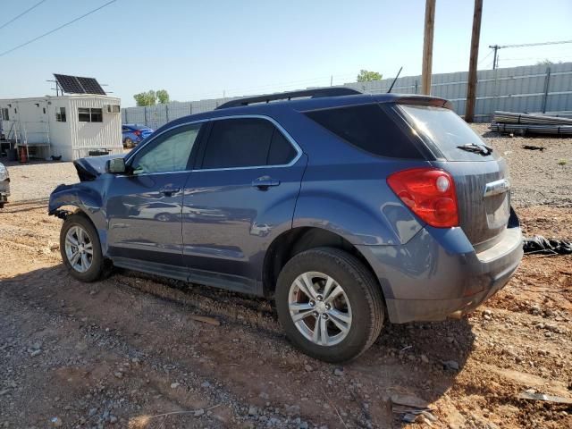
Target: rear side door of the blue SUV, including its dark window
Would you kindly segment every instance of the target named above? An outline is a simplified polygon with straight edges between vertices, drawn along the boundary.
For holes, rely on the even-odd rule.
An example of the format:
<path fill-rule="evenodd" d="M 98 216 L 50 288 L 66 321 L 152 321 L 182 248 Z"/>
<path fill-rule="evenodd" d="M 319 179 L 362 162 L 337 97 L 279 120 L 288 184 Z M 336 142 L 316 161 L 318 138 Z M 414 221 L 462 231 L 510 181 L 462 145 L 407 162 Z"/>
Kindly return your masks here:
<path fill-rule="evenodd" d="M 257 293 L 265 249 L 291 227 L 307 157 L 267 117 L 214 119 L 183 196 L 191 282 Z"/>

